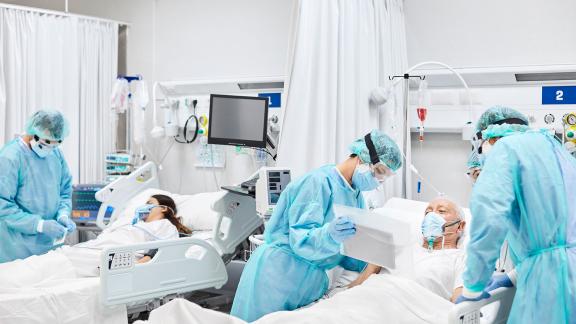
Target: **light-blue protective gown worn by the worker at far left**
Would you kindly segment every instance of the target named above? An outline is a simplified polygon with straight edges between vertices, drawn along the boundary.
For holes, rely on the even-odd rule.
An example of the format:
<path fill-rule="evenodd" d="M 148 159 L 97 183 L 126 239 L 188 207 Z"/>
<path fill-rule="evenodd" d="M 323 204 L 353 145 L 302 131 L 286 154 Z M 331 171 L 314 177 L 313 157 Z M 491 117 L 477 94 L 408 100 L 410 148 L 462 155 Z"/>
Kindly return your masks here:
<path fill-rule="evenodd" d="M 17 138 L 0 150 L 0 263 L 42 254 L 53 240 L 40 219 L 70 214 L 72 176 L 60 150 L 40 158 Z"/>

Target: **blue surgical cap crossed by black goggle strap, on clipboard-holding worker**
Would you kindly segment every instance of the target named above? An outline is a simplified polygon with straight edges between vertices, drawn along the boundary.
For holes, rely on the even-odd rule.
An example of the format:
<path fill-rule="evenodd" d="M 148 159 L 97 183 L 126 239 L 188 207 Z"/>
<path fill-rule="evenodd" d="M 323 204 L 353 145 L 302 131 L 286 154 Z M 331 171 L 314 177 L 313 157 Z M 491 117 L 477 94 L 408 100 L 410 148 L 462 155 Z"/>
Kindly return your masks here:
<path fill-rule="evenodd" d="M 379 130 L 373 130 L 370 132 L 370 138 L 374 143 L 376 148 L 376 154 L 380 161 L 384 163 L 390 170 L 396 171 L 402 166 L 402 154 L 398 145 L 386 134 Z M 368 152 L 368 147 L 366 147 L 366 142 L 364 137 L 355 140 L 350 144 L 350 152 L 352 154 L 358 155 L 360 160 L 364 163 L 370 163 L 370 153 Z"/>

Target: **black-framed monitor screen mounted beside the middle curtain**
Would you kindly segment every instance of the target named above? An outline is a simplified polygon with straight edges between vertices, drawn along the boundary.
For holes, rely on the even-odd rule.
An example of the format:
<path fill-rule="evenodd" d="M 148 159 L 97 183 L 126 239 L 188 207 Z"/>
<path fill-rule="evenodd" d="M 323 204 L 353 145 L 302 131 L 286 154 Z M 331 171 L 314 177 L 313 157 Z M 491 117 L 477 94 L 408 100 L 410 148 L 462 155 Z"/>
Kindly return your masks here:
<path fill-rule="evenodd" d="M 266 147 L 268 98 L 210 95 L 208 143 Z"/>

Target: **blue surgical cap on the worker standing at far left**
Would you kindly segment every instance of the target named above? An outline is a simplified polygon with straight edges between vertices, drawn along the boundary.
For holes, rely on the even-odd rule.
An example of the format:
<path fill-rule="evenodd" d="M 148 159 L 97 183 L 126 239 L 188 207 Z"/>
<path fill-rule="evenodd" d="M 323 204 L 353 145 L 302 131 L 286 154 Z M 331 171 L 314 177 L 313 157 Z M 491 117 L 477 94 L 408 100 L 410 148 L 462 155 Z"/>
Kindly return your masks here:
<path fill-rule="evenodd" d="M 51 141 L 61 141 L 69 133 L 68 121 L 61 112 L 39 110 L 26 122 L 26 134 Z"/>

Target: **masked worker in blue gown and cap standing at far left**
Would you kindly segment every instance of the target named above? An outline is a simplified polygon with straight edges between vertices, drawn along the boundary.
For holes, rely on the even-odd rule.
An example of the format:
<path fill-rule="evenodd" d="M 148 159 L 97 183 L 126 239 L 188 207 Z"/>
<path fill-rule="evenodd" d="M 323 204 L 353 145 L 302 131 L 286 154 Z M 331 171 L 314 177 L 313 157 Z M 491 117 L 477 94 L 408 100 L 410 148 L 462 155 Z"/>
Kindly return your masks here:
<path fill-rule="evenodd" d="M 60 112 L 41 110 L 0 150 L 0 263 L 45 253 L 76 228 L 72 176 L 58 149 L 67 135 Z"/>

